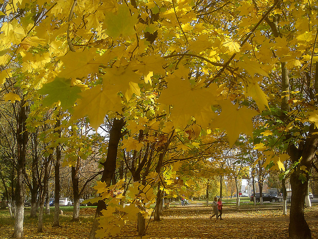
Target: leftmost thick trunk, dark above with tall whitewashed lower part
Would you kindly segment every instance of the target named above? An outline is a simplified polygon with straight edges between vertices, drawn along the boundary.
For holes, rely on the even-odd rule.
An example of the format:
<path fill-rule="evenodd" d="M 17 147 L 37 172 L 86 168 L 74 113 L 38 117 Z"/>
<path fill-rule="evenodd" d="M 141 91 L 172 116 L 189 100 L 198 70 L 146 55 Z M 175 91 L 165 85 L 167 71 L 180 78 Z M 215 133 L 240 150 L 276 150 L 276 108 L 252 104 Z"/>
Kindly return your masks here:
<path fill-rule="evenodd" d="M 16 185 L 16 211 L 14 222 L 13 238 L 22 238 L 23 219 L 24 219 L 24 174 L 25 174 L 25 155 L 29 133 L 26 130 L 26 107 L 25 101 L 21 100 L 20 109 L 17 116 L 17 185 Z"/>

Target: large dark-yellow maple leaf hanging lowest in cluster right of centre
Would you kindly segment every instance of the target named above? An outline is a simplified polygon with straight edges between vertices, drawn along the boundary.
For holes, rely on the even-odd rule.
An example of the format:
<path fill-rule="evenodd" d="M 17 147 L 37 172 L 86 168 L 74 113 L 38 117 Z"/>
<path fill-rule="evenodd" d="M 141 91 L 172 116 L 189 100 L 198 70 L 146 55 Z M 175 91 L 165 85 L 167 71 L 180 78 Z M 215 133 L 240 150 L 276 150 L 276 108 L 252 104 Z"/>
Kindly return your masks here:
<path fill-rule="evenodd" d="M 239 138 L 240 133 L 253 137 L 252 118 L 259 114 L 257 111 L 247 109 L 245 106 L 238 109 L 230 100 L 224 100 L 220 105 L 222 112 L 212 122 L 212 126 L 226 130 L 230 147 Z"/>

